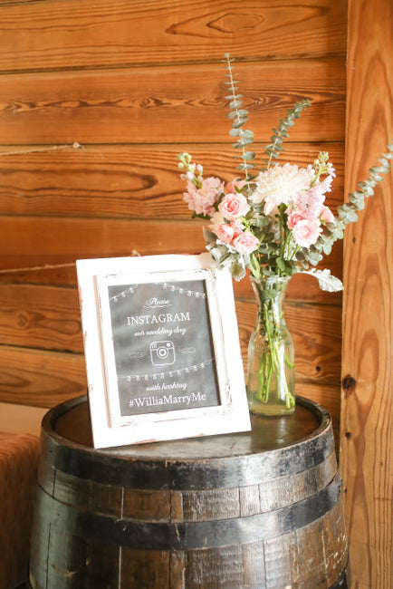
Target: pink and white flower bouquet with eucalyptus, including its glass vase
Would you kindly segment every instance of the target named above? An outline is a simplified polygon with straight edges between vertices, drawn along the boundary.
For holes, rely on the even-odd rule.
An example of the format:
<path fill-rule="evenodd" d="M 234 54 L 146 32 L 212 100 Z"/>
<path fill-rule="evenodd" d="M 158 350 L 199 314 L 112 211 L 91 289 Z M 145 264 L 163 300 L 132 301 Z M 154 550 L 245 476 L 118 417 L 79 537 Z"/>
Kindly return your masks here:
<path fill-rule="evenodd" d="M 338 291 L 340 280 L 329 269 L 317 269 L 323 255 L 343 237 L 345 227 L 358 219 L 365 197 L 390 169 L 393 144 L 379 158 L 379 166 L 369 170 L 369 178 L 358 184 L 348 202 L 335 216 L 325 205 L 335 177 L 329 154 L 320 152 L 307 168 L 291 163 L 278 164 L 283 140 L 302 111 L 311 106 L 307 99 L 296 102 L 273 129 L 271 142 L 264 148 L 262 165 L 254 173 L 255 153 L 251 130 L 244 129 L 248 111 L 242 108 L 237 90 L 233 60 L 225 53 L 229 100 L 230 135 L 241 160 L 236 169 L 241 177 L 224 183 L 203 175 L 200 164 L 188 153 L 179 154 L 181 177 L 187 182 L 184 199 L 193 217 L 206 219 L 206 247 L 219 267 L 230 270 L 235 280 L 250 271 L 258 303 L 254 333 L 248 347 L 247 396 L 252 412 L 283 415 L 294 410 L 293 343 L 283 315 L 283 300 L 291 276 L 302 272 L 314 276 L 322 290 Z"/>

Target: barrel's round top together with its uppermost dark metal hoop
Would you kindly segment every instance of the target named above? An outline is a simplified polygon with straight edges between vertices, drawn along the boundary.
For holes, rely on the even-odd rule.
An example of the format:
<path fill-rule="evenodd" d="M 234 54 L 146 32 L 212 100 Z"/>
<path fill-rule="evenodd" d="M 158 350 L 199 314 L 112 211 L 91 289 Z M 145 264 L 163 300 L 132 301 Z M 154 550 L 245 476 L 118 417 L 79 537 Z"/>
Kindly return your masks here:
<path fill-rule="evenodd" d="M 51 472 L 138 488 L 223 488 L 290 476 L 334 452 L 329 413 L 297 397 L 294 413 L 252 417 L 252 430 L 94 449 L 86 397 L 66 401 L 43 418 L 42 462 Z"/>

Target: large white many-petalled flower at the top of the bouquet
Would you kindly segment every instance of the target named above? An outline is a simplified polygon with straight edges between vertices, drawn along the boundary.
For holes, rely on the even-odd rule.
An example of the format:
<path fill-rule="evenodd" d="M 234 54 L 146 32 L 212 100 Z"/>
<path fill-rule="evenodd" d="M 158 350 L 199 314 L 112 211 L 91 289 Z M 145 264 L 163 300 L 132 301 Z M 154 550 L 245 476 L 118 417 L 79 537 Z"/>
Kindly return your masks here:
<path fill-rule="evenodd" d="M 272 166 L 259 173 L 251 199 L 255 204 L 264 202 L 264 214 L 269 215 L 274 208 L 288 205 L 299 192 L 310 188 L 313 175 L 312 168 L 299 169 L 288 163 Z"/>

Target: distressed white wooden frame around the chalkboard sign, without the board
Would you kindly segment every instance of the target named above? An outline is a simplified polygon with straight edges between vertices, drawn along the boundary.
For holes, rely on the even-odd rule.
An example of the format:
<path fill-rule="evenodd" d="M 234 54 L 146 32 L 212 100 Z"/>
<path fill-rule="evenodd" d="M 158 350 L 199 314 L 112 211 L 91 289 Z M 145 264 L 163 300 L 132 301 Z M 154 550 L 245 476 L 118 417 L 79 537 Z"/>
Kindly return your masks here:
<path fill-rule="evenodd" d="M 95 448 L 250 430 L 232 277 L 209 254 L 77 260 L 81 322 Z M 121 416 L 108 285 L 205 280 L 219 404 Z"/>

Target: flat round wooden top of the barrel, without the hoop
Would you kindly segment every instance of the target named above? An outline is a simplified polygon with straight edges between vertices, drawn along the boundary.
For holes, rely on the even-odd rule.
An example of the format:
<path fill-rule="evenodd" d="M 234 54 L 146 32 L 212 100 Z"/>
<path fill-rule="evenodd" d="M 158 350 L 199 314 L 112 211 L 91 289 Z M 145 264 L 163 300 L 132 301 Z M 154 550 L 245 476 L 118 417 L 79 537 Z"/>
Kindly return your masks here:
<path fill-rule="evenodd" d="M 94 451 L 134 459 L 231 458 L 292 446 L 315 436 L 318 430 L 326 430 L 330 426 L 331 419 L 326 410 L 300 397 L 292 415 L 279 418 L 252 416 L 251 431 Z M 49 435 L 69 440 L 72 445 L 93 449 L 89 409 L 85 397 L 66 401 L 50 410 L 43 420 L 43 429 Z"/>

